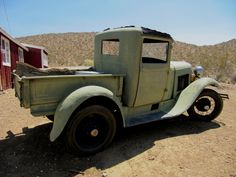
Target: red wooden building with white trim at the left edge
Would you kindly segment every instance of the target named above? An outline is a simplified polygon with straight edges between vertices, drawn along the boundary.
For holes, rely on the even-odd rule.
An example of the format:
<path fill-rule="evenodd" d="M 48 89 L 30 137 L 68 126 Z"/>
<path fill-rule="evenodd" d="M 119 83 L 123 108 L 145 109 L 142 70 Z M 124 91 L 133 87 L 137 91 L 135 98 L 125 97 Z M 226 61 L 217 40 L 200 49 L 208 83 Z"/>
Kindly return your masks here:
<path fill-rule="evenodd" d="M 48 67 L 45 48 L 21 44 L 0 27 L 0 90 L 11 88 L 11 73 L 16 62 L 25 62 L 37 68 Z"/>

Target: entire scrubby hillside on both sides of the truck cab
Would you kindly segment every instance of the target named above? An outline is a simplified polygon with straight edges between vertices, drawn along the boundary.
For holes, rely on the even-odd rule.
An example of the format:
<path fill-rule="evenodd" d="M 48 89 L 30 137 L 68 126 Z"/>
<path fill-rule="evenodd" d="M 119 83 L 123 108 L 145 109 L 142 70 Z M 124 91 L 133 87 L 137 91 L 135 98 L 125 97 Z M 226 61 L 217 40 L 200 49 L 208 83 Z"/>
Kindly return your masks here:
<path fill-rule="evenodd" d="M 43 34 L 18 38 L 20 42 L 44 46 L 50 67 L 92 65 L 95 33 Z M 197 46 L 176 41 L 172 60 L 201 65 L 205 75 L 236 83 L 236 39 L 216 45 Z"/>

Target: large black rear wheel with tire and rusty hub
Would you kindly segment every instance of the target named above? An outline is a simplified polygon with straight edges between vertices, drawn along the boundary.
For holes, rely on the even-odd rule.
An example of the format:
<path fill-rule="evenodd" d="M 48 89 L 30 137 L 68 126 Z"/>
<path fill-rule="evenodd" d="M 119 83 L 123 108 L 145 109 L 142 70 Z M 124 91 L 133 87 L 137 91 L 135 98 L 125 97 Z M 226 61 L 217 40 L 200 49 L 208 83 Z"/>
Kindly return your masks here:
<path fill-rule="evenodd" d="M 116 133 L 116 120 L 109 109 L 88 106 L 68 122 L 65 132 L 67 149 L 77 155 L 94 154 L 111 144 Z"/>

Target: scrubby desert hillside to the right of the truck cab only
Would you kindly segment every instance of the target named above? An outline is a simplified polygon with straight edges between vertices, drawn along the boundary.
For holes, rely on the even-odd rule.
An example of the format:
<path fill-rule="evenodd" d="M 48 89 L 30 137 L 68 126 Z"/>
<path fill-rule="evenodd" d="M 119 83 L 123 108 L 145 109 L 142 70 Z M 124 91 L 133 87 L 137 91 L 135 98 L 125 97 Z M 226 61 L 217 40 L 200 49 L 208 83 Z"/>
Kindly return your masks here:
<path fill-rule="evenodd" d="M 201 65 L 205 75 L 221 82 L 236 83 L 236 39 L 208 46 L 175 42 L 172 58 Z"/>

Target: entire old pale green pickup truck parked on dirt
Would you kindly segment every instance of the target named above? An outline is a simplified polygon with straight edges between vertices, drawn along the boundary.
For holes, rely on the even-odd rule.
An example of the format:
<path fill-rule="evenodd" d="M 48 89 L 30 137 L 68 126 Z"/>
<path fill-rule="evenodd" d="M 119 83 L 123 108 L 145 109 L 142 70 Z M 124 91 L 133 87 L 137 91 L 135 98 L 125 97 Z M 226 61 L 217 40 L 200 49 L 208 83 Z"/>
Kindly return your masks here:
<path fill-rule="evenodd" d="M 107 147 L 119 127 L 163 120 L 188 112 L 211 121 L 222 111 L 219 86 L 200 78 L 201 67 L 171 61 L 173 39 L 144 27 L 106 29 L 95 37 L 94 66 L 64 74 L 13 73 L 20 105 L 53 119 L 50 140 L 61 134 L 79 155 Z"/>

